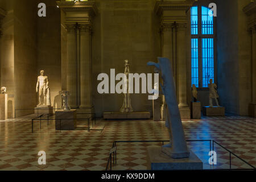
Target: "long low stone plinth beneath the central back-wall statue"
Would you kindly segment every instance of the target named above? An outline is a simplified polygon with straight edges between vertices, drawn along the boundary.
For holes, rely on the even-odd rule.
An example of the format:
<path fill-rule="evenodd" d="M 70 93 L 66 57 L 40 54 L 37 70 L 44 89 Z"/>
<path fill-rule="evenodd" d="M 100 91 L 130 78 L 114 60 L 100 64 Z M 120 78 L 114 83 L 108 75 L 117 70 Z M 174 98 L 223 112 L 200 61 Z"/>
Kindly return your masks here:
<path fill-rule="evenodd" d="M 131 112 L 131 113 L 121 113 L 121 112 L 104 112 L 104 119 L 150 119 L 150 112 Z"/>

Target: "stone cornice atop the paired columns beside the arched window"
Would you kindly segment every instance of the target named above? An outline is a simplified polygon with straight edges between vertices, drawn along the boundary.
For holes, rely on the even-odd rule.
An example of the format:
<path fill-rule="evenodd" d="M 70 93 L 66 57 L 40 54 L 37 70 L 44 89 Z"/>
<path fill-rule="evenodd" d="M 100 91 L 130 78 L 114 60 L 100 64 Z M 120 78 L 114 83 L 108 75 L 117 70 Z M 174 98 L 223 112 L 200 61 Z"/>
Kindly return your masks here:
<path fill-rule="evenodd" d="M 155 3 L 155 14 L 162 15 L 164 10 L 184 10 L 187 11 L 195 2 L 195 0 L 170 1 L 157 0 Z"/>

